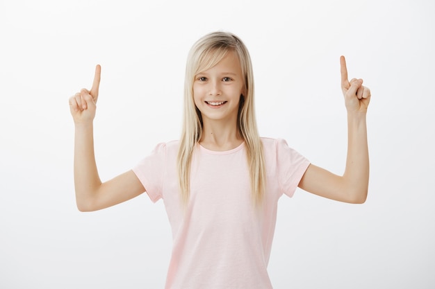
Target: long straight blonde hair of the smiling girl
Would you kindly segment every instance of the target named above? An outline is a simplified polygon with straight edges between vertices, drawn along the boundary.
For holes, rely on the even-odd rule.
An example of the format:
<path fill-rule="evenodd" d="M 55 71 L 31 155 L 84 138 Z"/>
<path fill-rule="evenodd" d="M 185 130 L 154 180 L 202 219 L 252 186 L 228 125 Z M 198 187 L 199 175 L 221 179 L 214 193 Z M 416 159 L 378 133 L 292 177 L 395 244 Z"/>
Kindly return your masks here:
<path fill-rule="evenodd" d="M 195 146 L 202 136 L 202 116 L 193 100 L 195 75 L 214 67 L 217 62 L 234 51 L 245 77 L 245 95 L 240 96 L 237 128 L 245 141 L 252 198 L 256 204 L 263 200 L 265 164 L 263 146 L 258 135 L 254 111 L 254 75 L 251 58 L 243 42 L 232 33 L 214 32 L 200 38 L 190 49 L 184 84 L 183 128 L 177 158 L 181 198 L 186 204 L 190 195 L 190 164 Z"/>

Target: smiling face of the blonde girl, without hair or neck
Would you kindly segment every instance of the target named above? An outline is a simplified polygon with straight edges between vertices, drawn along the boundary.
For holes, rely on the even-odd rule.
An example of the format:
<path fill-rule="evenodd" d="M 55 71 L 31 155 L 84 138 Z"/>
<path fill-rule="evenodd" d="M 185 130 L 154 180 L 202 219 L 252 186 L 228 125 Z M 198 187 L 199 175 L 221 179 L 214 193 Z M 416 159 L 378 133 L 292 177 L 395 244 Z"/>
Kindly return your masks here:
<path fill-rule="evenodd" d="M 244 87 L 240 62 L 233 51 L 229 51 L 214 67 L 197 73 L 193 82 L 193 99 L 203 123 L 227 121 L 236 125 Z"/>

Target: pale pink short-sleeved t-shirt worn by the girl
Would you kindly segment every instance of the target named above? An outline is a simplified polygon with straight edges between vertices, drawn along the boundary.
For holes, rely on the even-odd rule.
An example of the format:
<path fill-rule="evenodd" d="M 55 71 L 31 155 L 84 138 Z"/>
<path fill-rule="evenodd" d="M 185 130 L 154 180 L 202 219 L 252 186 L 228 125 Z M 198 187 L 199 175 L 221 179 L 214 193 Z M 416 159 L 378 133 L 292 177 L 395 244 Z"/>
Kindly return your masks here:
<path fill-rule="evenodd" d="M 283 139 L 262 138 L 264 206 L 254 207 L 242 143 L 217 152 L 197 146 L 186 212 L 178 189 L 179 142 L 161 143 L 133 168 L 153 202 L 163 199 L 173 247 L 167 289 L 268 289 L 277 202 L 293 195 L 309 161 Z"/>

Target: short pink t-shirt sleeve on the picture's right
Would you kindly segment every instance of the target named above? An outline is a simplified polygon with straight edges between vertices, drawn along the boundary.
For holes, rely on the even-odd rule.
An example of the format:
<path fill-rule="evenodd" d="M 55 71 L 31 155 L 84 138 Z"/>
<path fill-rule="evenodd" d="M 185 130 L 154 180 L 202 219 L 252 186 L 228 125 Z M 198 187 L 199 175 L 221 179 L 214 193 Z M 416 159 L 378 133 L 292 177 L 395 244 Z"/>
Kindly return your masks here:
<path fill-rule="evenodd" d="M 276 139 L 275 148 L 279 187 L 282 193 L 292 197 L 310 162 L 290 148 L 284 139 Z"/>

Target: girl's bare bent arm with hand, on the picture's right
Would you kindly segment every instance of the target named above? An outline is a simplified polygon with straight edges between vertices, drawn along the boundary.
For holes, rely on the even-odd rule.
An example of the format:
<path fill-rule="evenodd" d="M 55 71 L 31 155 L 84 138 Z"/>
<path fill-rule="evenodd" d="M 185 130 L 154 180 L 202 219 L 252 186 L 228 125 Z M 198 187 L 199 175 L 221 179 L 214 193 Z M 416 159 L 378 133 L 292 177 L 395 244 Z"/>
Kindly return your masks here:
<path fill-rule="evenodd" d="M 311 164 L 299 182 L 299 188 L 331 200 L 361 204 L 368 192 L 369 160 L 366 114 L 370 89 L 363 80 L 347 80 L 345 58 L 340 57 L 341 89 L 347 109 L 347 160 L 345 173 L 335 175 Z"/>

